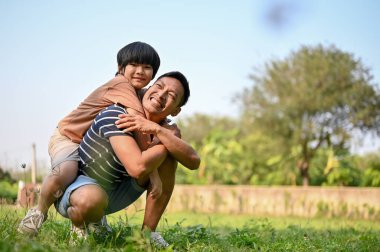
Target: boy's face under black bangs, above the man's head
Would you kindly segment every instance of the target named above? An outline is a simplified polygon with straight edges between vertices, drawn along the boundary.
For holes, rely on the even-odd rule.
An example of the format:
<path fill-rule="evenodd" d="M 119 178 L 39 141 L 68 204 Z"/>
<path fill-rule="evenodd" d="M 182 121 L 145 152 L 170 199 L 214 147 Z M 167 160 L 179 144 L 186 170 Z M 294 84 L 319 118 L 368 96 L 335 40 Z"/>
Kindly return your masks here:
<path fill-rule="evenodd" d="M 129 63 L 124 69 L 124 77 L 138 90 L 146 87 L 153 77 L 153 68 L 146 64 Z"/>

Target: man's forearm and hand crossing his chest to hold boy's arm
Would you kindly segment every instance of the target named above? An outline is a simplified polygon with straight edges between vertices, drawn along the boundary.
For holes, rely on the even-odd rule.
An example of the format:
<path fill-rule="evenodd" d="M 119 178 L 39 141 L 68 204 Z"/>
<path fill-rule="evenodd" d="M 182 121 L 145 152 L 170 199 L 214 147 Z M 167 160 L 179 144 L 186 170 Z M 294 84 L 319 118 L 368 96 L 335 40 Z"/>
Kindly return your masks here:
<path fill-rule="evenodd" d="M 141 116 L 128 114 L 120 115 L 119 117 L 123 119 L 116 121 L 118 128 L 125 128 L 125 132 L 140 131 L 157 136 L 168 152 L 178 162 L 191 170 L 198 169 L 200 158 L 197 152 L 190 144 L 175 136 L 170 129 L 149 121 Z"/>

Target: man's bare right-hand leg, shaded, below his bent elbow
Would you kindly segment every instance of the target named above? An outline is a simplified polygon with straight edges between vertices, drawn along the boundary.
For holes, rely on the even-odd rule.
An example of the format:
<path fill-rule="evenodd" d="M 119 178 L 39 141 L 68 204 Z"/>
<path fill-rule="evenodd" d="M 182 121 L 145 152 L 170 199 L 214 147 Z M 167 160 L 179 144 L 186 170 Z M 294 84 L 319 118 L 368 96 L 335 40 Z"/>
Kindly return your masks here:
<path fill-rule="evenodd" d="M 173 193 L 176 169 L 177 161 L 171 156 L 168 156 L 158 168 L 162 180 L 162 195 L 158 199 L 153 199 L 149 196 L 150 191 L 147 191 L 143 229 L 156 230 Z"/>

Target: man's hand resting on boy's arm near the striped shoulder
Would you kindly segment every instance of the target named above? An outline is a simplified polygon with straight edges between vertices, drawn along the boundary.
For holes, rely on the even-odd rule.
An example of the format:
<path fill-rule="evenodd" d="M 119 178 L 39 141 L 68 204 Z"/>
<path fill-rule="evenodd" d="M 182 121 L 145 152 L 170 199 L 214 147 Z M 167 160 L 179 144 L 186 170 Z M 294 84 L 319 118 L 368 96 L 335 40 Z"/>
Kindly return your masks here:
<path fill-rule="evenodd" d="M 139 131 L 144 134 L 156 134 L 160 125 L 149 121 L 139 115 L 121 114 L 115 122 L 116 127 L 122 128 L 124 132 Z"/>

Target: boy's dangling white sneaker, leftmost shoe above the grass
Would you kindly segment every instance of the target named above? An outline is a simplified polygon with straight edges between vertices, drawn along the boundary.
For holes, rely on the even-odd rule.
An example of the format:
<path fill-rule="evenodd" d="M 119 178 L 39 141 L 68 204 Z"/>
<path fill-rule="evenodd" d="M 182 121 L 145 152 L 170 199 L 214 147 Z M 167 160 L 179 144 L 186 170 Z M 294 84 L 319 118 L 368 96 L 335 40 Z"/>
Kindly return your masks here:
<path fill-rule="evenodd" d="M 26 213 L 24 219 L 18 225 L 17 231 L 22 234 L 37 235 L 42 223 L 47 219 L 47 214 L 43 214 L 40 210 L 31 208 Z"/>

